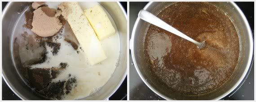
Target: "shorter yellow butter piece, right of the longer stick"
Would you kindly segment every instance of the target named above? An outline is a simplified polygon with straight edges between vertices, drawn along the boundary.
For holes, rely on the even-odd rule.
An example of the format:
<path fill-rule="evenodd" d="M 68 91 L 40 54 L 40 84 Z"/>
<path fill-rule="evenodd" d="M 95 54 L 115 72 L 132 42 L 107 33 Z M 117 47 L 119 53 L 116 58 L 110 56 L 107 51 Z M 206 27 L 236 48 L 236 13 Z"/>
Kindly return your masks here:
<path fill-rule="evenodd" d="M 93 8 L 84 10 L 84 13 L 91 26 L 93 26 L 99 40 L 115 34 L 115 28 L 100 5 L 96 4 Z"/>

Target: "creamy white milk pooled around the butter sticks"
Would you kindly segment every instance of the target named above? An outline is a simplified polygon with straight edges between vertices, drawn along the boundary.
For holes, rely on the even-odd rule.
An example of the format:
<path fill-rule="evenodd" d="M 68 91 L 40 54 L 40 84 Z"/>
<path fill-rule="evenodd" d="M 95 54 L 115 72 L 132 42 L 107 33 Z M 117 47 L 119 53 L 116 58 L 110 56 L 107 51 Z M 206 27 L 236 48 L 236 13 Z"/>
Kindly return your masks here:
<path fill-rule="evenodd" d="M 60 2 L 47 2 L 46 4 L 49 5 L 49 8 L 57 9 L 57 4 Z M 92 7 L 95 2 L 89 3 L 79 3 L 82 9 L 86 9 Z M 80 99 L 89 96 L 92 93 L 97 92 L 106 82 L 110 79 L 110 76 L 113 74 L 116 68 L 116 64 L 119 60 L 119 51 L 120 51 L 120 41 L 119 41 L 119 34 L 118 30 L 115 26 L 114 20 L 111 18 L 110 14 L 107 13 L 108 17 L 110 17 L 110 21 L 112 25 L 115 27 L 116 34 L 106 38 L 102 41 L 102 47 L 105 51 L 107 59 L 102 61 L 99 64 L 91 66 L 88 64 L 88 60 L 82 55 L 83 51 L 81 51 L 78 47 L 79 53 L 71 46 L 70 43 L 64 41 L 64 35 L 69 34 L 69 31 L 65 31 L 66 25 L 68 22 L 66 21 L 66 25 L 63 29 L 63 35 L 60 35 L 60 39 L 57 40 L 57 43 L 61 43 L 60 49 L 57 55 L 53 55 L 51 53 L 51 47 L 46 45 L 47 49 L 47 59 L 42 64 L 35 64 L 32 65 L 31 68 L 52 68 L 58 67 L 60 63 L 66 62 L 68 66 L 57 76 L 57 78 L 53 79 L 52 82 L 57 81 L 65 81 L 67 80 L 69 74 L 71 76 L 75 76 L 76 78 L 76 87 L 74 87 L 69 94 L 64 96 L 65 100 L 73 100 L 73 99 Z M 22 15 L 23 16 L 23 15 Z M 21 17 L 22 18 L 22 17 Z M 24 23 L 26 23 L 25 20 Z M 26 30 L 28 34 L 32 32 Z M 20 32 L 23 33 L 23 32 Z M 19 34 L 20 34 L 19 33 Z M 23 49 L 23 50 L 22 50 Z M 24 48 L 20 48 L 20 51 L 25 51 Z M 22 59 L 22 56 L 21 56 Z M 23 59 L 22 59 L 23 60 Z"/>

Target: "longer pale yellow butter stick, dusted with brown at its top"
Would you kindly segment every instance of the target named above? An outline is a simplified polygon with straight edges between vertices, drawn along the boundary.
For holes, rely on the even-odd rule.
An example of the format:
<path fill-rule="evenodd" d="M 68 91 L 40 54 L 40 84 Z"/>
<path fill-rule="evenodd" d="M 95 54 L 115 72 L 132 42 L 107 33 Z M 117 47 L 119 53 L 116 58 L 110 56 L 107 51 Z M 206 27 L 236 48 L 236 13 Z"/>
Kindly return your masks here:
<path fill-rule="evenodd" d="M 89 64 L 94 65 L 106 59 L 102 45 L 78 2 L 63 2 L 58 8 L 62 10 L 62 16 L 71 26 Z"/>

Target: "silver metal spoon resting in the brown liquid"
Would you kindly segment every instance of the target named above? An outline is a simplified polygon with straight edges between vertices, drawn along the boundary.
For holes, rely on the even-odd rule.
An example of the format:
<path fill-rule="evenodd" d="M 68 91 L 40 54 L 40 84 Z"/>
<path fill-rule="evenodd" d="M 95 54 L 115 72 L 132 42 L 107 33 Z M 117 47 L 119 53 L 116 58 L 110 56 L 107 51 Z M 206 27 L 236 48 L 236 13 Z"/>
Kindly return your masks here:
<path fill-rule="evenodd" d="M 138 16 L 144 20 L 147 21 L 151 24 L 153 24 L 154 26 L 158 26 L 164 30 L 167 30 L 173 34 L 176 34 L 178 36 L 180 36 L 181 38 L 185 38 L 186 40 L 196 44 L 198 46 L 199 49 L 202 49 L 205 46 L 205 41 L 203 41 L 202 43 L 199 43 L 197 41 L 195 41 L 194 39 L 188 37 L 187 35 L 181 33 L 179 30 L 176 30 L 175 28 L 173 28 L 172 26 L 168 25 L 166 22 L 162 21 L 161 19 L 159 19 L 158 17 L 154 16 L 152 13 L 141 9 L 141 11 L 139 12 Z"/>

